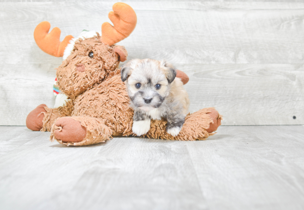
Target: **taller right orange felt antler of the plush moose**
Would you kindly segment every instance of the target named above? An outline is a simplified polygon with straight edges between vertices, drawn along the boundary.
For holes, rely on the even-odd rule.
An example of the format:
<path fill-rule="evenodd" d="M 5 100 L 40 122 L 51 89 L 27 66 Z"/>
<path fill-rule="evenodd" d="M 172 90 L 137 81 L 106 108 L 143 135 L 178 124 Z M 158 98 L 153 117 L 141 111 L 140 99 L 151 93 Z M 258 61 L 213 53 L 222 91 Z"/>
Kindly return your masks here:
<path fill-rule="evenodd" d="M 135 11 L 122 2 L 113 5 L 113 11 L 109 12 L 109 19 L 114 27 L 108 22 L 102 24 L 101 42 L 110 46 L 128 37 L 137 22 Z"/>

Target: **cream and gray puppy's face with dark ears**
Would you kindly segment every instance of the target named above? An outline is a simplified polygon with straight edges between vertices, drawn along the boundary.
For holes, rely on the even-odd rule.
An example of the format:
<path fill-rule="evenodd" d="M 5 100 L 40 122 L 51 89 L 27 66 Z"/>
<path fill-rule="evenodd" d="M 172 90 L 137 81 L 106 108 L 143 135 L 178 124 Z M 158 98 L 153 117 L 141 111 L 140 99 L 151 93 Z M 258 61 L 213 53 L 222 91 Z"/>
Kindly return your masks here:
<path fill-rule="evenodd" d="M 120 71 L 130 100 L 144 111 L 161 106 L 176 76 L 176 69 L 171 64 L 153 59 L 131 60 Z"/>

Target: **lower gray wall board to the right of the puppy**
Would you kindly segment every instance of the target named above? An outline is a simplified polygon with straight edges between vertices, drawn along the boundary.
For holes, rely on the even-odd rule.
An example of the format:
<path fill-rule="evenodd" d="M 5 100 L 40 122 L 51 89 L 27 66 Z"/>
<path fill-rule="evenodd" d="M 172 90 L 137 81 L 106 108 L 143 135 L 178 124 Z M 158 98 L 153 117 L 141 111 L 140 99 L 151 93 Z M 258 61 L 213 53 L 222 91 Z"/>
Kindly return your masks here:
<path fill-rule="evenodd" d="M 176 66 L 190 78 L 190 112 L 216 107 L 222 125 L 304 124 L 303 64 Z"/>

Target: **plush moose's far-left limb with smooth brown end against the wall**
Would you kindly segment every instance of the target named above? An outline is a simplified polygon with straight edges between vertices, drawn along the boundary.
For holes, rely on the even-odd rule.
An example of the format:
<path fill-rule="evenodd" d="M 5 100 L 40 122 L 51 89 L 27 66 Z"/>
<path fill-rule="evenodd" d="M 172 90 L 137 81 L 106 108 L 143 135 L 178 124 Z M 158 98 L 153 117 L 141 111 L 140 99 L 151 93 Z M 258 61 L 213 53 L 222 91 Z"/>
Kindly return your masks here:
<path fill-rule="evenodd" d="M 58 117 L 70 116 L 73 111 L 73 103 L 57 108 L 48 108 L 40 104 L 26 117 L 26 127 L 34 131 L 51 131 L 51 125 Z"/>

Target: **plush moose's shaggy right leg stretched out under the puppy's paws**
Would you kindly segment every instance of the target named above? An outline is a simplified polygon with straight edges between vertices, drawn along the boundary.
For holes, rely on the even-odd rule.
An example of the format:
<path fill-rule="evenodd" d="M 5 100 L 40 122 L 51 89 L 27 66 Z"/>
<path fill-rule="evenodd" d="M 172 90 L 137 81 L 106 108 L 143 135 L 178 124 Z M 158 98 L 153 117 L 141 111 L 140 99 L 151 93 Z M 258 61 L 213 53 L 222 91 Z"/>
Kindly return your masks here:
<path fill-rule="evenodd" d="M 212 132 L 221 125 L 221 119 L 214 108 L 205 108 L 187 115 L 180 133 L 175 137 L 166 132 L 165 120 L 151 120 L 150 130 L 144 136 L 182 141 L 203 140 L 214 134 Z"/>

